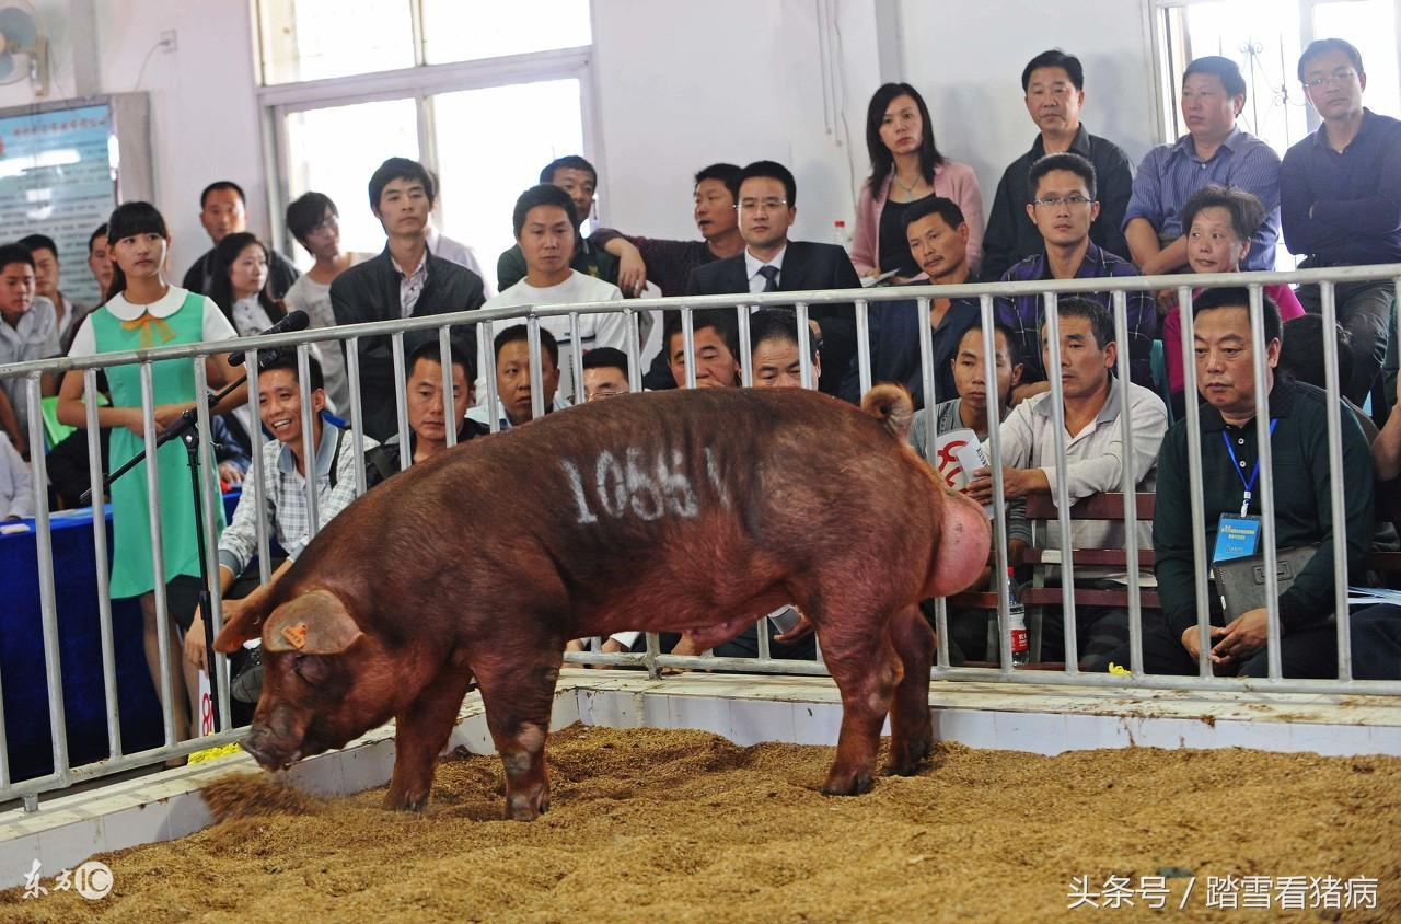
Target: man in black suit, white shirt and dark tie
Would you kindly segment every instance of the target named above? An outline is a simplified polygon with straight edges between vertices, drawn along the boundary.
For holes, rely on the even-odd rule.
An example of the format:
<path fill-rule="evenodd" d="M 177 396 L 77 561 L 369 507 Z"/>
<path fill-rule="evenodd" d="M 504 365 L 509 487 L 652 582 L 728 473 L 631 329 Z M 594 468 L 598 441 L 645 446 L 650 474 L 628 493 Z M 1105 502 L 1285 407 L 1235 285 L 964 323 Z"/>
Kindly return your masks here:
<path fill-rule="evenodd" d="M 733 192 L 744 252 L 693 269 L 688 294 L 862 287 L 841 247 L 789 240 L 789 227 L 797 217 L 797 184 L 783 164 L 771 160 L 750 164 L 734 178 Z M 842 373 L 856 355 L 855 311 L 850 303 L 814 304 L 808 318 L 822 344 L 818 388 L 836 394 Z"/>

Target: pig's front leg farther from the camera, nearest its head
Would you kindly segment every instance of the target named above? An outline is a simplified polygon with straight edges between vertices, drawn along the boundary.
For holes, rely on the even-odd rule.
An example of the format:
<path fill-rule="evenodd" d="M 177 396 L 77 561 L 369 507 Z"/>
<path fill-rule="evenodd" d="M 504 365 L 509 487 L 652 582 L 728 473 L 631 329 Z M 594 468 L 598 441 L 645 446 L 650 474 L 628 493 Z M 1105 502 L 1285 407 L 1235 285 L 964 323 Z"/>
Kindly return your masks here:
<path fill-rule="evenodd" d="M 447 746 L 471 683 L 471 670 L 448 667 L 394 716 L 394 778 L 384 808 L 401 812 L 427 808 L 433 767 Z"/>

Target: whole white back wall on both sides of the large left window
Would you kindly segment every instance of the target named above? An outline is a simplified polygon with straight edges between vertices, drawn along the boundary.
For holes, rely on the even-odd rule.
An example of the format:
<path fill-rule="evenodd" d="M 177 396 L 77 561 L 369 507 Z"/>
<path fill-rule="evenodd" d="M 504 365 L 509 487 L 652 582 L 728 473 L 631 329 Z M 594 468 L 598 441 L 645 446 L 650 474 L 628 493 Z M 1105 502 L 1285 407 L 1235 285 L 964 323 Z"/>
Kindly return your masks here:
<path fill-rule="evenodd" d="M 597 160 L 605 222 L 637 233 L 691 237 L 691 175 L 717 160 L 789 164 L 799 182 L 796 234 L 829 240 L 850 227 L 852 195 L 870 165 L 864 116 L 887 77 L 922 90 L 940 147 L 969 163 L 991 205 L 1002 168 L 1034 126 L 1019 76 L 1052 45 L 1086 63 L 1086 122 L 1138 158 L 1154 140 L 1152 56 L 1142 3 L 1080 0 L 1075 15 L 1034 15 L 1028 0 L 974 4 L 829 0 L 836 29 L 827 55 L 836 109 L 824 115 L 818 0 L 595 0 Z M 251 226 L 266 234 L 266 178 L 247 0 L 39 0 L 55 41 L 50 100 L 74 95 L 76 56 L 99 62 L 101 93 L 151 94 L 157 205 L 175 237 L 177 272 L 207 247 L 199 191 L 231 178 L 248 192 Z M 90 15 L 95 48 L 74 48 Z M 881 57 L 878 24 L 898 25 L 898 59 Z M 147 52 L 165 29 L 174 52 Z M 137 76 L 140 74 L 140 86 Z M 81 74 L 80 74 L 81 76 Z M 0 87 L 0 107 L 32 101 Z M 845 115 L 845 125 L 841 115 Z M 497 135 L 497 139 L 507 135 Z"/>

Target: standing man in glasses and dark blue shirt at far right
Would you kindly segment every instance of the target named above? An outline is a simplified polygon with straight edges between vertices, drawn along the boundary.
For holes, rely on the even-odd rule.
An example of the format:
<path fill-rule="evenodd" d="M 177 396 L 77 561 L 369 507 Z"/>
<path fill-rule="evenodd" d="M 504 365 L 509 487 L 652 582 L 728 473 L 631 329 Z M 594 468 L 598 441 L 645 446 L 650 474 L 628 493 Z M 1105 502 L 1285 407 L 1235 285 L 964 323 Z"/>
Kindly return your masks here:
<path fill-rule="evenodd" d="M 1401 262 L 1401 122 L 1362 108 L 1362 55 L 1341 38 L 1310 43 L 1299 57 L 1299 80 L 1323 125 L 1290 147 L 1279 168 L 1285 243 L 1307 255 L 1303 266 Z M 1318 286 L 1300 286 L 1297 294 L 1306 311 L 1323 310 Z M 1342 388 L 1360 404 L 1387 353 L 1395 286 L 1345 283 L 1337 296 L 1353 351 L 1352 381 Z"/>

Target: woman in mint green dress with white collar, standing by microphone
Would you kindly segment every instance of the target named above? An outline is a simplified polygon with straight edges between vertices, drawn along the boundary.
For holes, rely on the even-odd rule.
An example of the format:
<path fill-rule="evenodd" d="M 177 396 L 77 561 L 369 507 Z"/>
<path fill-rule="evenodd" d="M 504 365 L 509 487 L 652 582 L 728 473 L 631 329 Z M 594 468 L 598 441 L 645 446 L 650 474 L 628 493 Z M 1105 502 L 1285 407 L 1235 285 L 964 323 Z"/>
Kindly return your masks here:
<path fill-rule="evenodd" d="M 106 303 L 83 321 L 73 337 L 69 356 L 94 356 L 133 349 L 224 341 L 235 337 L 234 328 L 219 307 L 202 294 L 170 285 L 165 258 L 170 231 L 154 206 L 129 202 L 118 206 L 108 222 L 112 254 L 112 286 Z M 119 466 L 144 449 L 142 423 L 140 365 L 108 367 L 106 380 L 112 407 L 98 408 L 98 426 L 111 428 L 111 458 Z M 206 363 L 209 381 L 219 387 L 237 373 L 224 355 Z M 170 359 L 151 365 L 156 429 L 160 432 L 195 402 L 195 366 L 189 359 Z M 85 426 L 83 373 L 63 377 L 59 391 L 59 421 Z M 227 411 L 247 400 L 248 390 L 238 388 L 214 412 Z M 188 627 L 199 590 L 199 543 L 191 498 L 189 467 L 179 440 L 165 443 L 157 453 L 160 480 L 160 523 L 170 631 L 170 665 L 177 739 L 199 732 L 198 674 L 181 656 L 179 628 Z M 156 623 L 156 575 L 151 564 L 150 510 L 146 463 L 112 484 L 112 582 L 113 599 L 140 597 L 146 665 L 160 695 L 160 635 Z M 224 510 L 216 503 L 216 536 L 224 526 Z M 181 670 L 181 666 L 185 666 Z"/>

